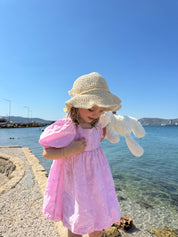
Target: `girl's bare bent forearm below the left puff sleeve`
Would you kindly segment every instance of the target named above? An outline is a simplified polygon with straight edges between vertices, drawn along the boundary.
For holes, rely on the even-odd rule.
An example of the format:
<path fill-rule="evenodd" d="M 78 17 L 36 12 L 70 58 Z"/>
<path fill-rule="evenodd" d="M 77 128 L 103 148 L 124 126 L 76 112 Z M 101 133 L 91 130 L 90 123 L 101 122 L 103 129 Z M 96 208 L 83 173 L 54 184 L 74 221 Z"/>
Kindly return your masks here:
<path fill-rule="evenodd" d="M 86 147 L 86 141 L 84 138 L 80 140 L 74 140 L 67 147 L 62 148 L 45 148 L 43 156 L 48 160 L 57 160 L 60 158 L 67 158 L 72 155 L 81 153 Z"/>

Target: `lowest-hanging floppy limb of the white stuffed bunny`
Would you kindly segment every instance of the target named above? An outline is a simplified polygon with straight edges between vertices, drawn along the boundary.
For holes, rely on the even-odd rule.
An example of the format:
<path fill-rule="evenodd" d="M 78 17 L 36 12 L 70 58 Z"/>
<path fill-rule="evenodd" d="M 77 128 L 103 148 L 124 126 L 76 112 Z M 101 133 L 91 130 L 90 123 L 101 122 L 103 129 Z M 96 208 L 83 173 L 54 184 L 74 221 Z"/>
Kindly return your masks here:
<path fill-rule="evenodd" d="M 143 148 L 129 135 L 125 137 L 127 146 L 134 156 L 140 157 L 143 155 Z"/>

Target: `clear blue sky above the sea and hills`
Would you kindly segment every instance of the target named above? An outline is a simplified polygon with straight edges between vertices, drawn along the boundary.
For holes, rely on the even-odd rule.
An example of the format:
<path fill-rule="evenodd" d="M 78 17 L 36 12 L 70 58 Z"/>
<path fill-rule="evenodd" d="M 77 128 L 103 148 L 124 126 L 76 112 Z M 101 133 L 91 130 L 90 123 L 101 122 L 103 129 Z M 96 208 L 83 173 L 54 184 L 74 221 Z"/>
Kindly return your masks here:
<path fill-rule="evenodd" d="M 178 118 L 178 1 L 0 0 L 0 116 L 60 119 L 93 71 L 118 114 Z"/>

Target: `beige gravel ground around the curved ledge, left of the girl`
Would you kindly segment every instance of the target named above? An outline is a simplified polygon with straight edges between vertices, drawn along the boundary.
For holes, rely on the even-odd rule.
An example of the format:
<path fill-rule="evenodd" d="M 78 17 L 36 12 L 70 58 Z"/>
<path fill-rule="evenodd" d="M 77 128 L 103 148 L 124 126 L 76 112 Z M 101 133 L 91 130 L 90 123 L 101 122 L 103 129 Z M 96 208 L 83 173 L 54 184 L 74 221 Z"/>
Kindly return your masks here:
<path fill-rule="evenodd" d="M 0 237 L 59 237 L 53 222 L 43 217 L 43 199 L 23 150 L 0 148 L 0 152 L 15 154 L 26 166 L 25 175 L 16 187 L 0 196 Z"/>

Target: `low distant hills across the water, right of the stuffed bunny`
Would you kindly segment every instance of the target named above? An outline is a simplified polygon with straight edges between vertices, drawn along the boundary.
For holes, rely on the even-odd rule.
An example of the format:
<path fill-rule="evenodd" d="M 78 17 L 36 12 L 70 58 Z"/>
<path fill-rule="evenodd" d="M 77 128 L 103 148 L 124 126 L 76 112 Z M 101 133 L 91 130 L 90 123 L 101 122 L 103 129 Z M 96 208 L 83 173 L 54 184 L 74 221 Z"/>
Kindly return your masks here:
<path fill-rule="evenodd" d="M 143 126 L 171 126 L 178 125 L 178 119 L 161 119 L 161 118 L 141 118 L 139 122 Z"/>

